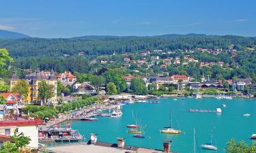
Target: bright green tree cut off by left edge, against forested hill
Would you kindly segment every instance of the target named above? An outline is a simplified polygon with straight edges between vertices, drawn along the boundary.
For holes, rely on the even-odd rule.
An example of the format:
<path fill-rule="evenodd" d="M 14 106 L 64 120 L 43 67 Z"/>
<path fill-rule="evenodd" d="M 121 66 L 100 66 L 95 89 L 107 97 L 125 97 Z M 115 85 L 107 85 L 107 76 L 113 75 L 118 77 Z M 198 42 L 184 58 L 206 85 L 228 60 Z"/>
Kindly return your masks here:
<path fill-rule="evenodd" d="M 8 62 L 12 62 L 13 59 L 9 56 L 8 50 L 5 48 L 0 49 L 0 73 L 6 71 L 6 65 Z"/>

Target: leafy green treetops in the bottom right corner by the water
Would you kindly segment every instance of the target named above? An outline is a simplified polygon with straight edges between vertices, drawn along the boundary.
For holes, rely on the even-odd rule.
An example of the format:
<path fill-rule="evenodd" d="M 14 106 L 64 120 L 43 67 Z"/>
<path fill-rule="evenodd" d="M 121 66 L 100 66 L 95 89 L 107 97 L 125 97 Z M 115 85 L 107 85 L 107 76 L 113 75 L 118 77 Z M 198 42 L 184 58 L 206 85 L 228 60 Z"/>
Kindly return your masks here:
<path fill-rule="evenodd" d="M 227 153 L 253 153 L 256 152 L 256 143 L 252 143 L 248 146 L 243 140 L 237 142 L 235 139 L 227 142 Z"/>

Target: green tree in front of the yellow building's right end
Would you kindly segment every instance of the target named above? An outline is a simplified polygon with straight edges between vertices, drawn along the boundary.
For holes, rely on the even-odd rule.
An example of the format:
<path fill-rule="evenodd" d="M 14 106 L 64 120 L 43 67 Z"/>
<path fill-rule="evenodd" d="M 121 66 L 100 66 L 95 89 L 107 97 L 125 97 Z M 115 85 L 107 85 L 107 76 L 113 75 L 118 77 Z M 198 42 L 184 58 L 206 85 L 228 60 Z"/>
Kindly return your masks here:
<path fill-rule="evenodd" d="M 46 100 L 53 97 L 53 86 L 47 84 L 45 80 L 42 80 L 42 82 L 40 82 L 38 86 L 38 97 L 40 97 L 41 99 L 41 105 L 44 105 L 44 103 L 46 103 Z"/>

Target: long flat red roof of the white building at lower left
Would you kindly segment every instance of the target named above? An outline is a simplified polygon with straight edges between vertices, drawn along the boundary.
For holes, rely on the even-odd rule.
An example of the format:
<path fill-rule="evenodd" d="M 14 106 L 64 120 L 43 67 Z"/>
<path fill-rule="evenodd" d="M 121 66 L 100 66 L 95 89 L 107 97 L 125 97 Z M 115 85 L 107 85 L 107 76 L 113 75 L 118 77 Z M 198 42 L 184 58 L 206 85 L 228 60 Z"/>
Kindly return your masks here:
<path fill-rule="evenodd" d="M 33 126 L 42 123 L 42 120 L 4 120 L 0 121 L 0 126 Z"/>

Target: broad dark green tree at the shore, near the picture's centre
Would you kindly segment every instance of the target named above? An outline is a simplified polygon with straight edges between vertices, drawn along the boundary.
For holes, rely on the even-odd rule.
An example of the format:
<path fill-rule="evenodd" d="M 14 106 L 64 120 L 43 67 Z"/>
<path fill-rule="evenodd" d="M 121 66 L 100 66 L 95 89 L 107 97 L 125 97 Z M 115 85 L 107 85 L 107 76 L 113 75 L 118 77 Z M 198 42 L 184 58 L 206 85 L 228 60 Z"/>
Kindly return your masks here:
<path fill-rule="evenodd" d="M 134 78 L 130 82 L 130 90 L 137 95 L 147 95 L 145 82 L 141 78 Z"/>

